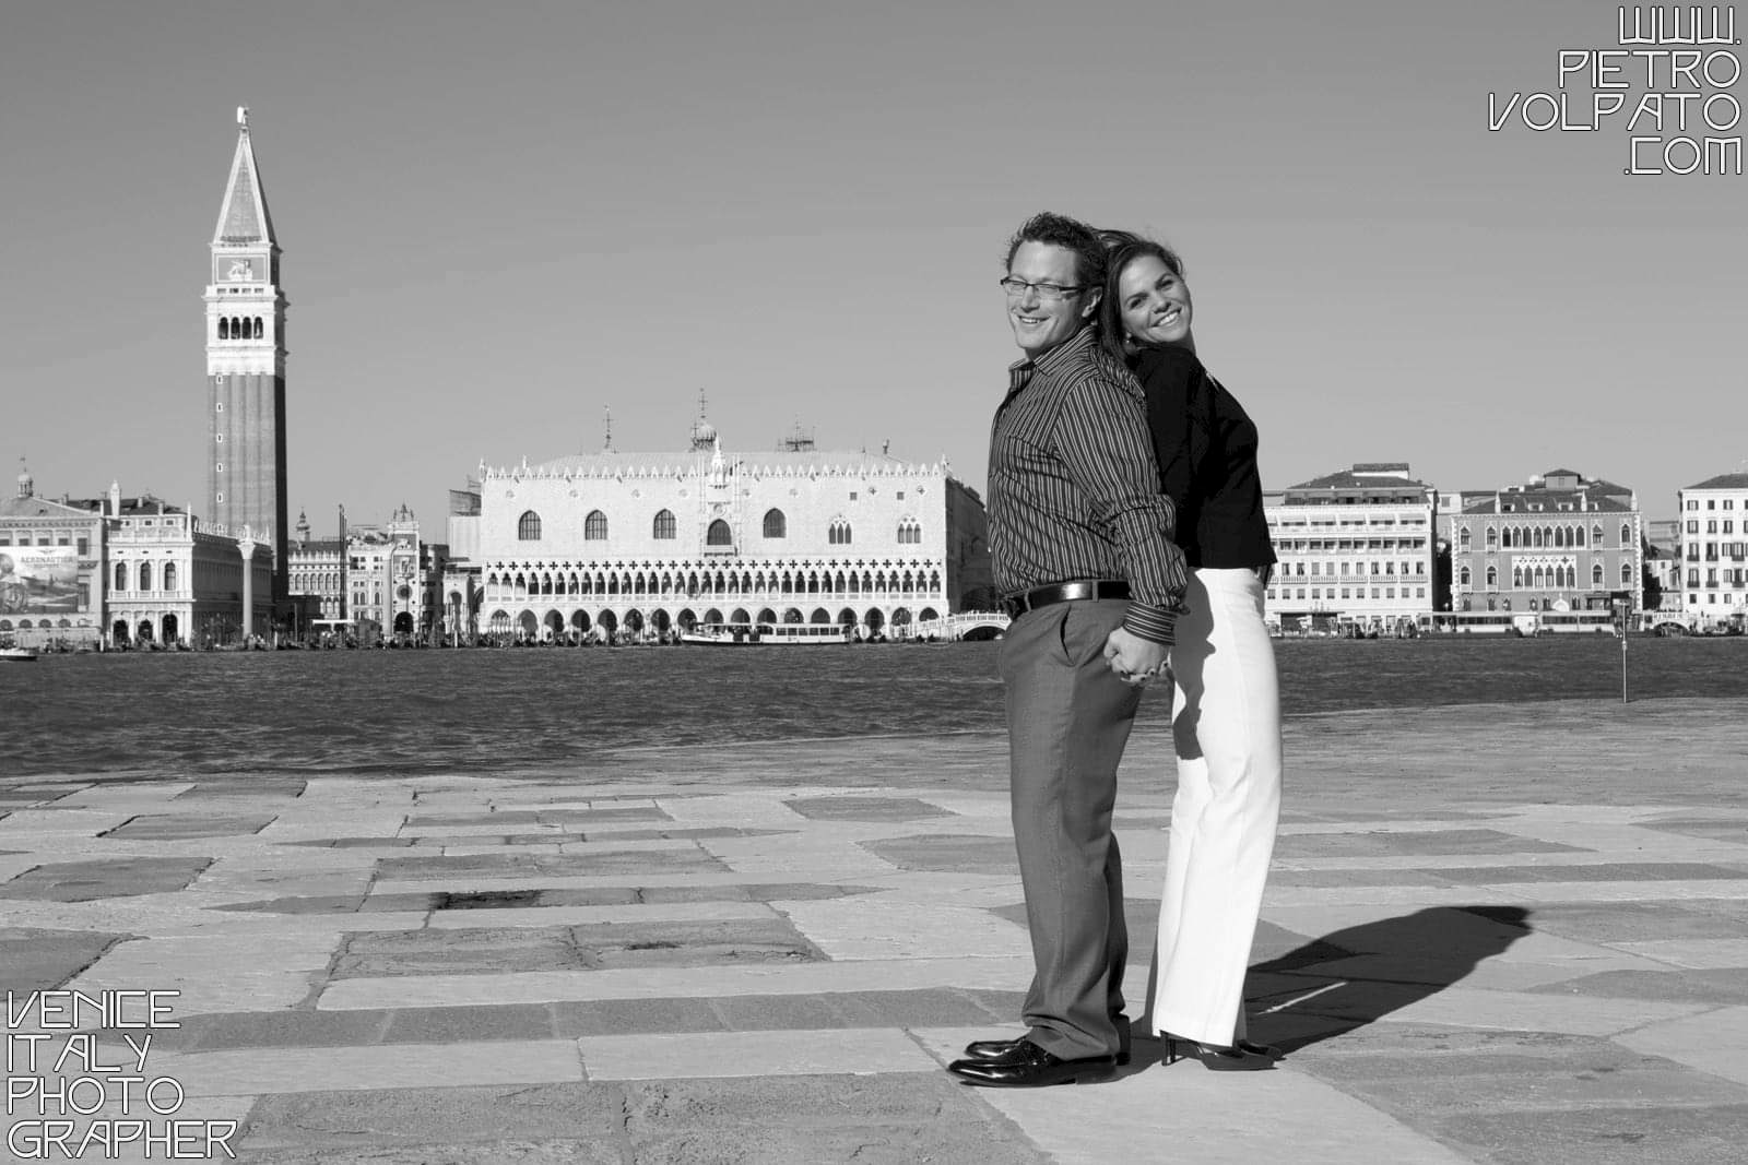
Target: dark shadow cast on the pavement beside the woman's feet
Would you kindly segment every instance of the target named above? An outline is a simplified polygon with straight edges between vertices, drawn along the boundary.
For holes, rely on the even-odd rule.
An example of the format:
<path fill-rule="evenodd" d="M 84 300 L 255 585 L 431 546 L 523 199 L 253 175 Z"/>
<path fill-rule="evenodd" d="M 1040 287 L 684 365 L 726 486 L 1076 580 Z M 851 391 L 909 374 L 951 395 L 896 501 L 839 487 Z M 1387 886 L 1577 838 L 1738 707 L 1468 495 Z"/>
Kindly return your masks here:
<path fill-rule="evenodd" d="M 1295 1051 L 1365 1027 L 1463 980 L 1531 929 L 1524 906 L 1432 906 L 1334 931 L 1250 968 L 1250 1039 Z"/>

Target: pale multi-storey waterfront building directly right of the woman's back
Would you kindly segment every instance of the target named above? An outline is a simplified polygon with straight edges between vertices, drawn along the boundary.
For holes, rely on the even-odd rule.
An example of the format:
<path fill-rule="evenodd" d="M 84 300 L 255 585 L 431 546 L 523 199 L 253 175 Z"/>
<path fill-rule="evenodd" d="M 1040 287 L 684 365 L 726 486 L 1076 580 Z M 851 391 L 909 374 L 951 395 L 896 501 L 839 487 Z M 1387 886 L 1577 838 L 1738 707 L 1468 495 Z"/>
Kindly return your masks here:
<path fill-rule="evenodd" d="M 1281 631 L 1416 625 L 1433 610 L 1435 496 L 1404 461 L 1358 463 L 1267 494 L 1280 559 L 1267 620 Z"/>

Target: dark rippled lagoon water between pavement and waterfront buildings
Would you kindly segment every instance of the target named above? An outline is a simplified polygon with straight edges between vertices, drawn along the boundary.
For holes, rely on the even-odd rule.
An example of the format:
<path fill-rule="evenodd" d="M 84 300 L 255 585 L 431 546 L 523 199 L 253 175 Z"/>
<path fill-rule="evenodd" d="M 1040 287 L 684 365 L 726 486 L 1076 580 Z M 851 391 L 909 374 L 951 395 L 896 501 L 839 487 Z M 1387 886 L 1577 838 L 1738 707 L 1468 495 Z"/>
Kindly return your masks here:
<path fill-rule="evenodd" d="M 1000 730 L 998 643 L 58 655 L 0 665 L 7 776 L 509 772 L 603 751 Z M 1288 716 L 1620 699 L 1612 636 L 1283 639 Z M 1745 697 L 1748 639 L 1629 641 L 1629 695 Z M 1164 721 L 1162 690 L 1141 720 Z"/>

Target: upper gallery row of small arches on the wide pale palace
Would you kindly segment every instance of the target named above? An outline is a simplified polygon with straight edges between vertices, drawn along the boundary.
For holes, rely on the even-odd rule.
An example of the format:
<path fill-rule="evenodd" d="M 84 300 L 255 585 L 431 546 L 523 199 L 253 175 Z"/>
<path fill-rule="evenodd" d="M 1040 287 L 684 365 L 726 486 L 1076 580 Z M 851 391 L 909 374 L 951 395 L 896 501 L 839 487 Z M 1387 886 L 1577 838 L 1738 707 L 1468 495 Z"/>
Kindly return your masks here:
<path fill-rule="evenodd" d="M 673 596 L 673 594 L 939 594 L 940 571 L 689 571 L 626 573 L 489 573 L 486 596 Z"/>

